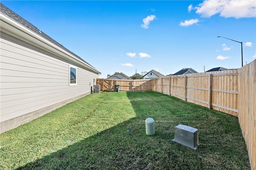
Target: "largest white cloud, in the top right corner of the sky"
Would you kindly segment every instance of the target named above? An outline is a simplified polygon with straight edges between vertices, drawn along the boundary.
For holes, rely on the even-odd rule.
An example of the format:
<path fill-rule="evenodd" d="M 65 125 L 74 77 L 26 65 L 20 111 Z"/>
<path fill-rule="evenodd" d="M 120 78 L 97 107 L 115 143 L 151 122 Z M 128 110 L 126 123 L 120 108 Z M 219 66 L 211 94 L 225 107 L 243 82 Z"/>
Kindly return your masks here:
<path fill-rule="evenodd" d="M 238 19 L 256 17 L 255 8 L 255 0 L 205 0 L 194 9 L 202 17 L 220 14 L 224 18 Z"/>

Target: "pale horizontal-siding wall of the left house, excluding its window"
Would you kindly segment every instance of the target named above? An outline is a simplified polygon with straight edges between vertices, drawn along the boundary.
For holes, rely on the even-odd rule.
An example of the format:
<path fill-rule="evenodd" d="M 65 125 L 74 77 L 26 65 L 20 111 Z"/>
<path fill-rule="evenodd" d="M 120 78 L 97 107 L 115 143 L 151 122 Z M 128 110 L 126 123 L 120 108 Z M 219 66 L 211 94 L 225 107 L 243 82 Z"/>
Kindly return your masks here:
<path fill-rule="evenodd" d="M 0 133 L 90 94 L 98 74 L 1 31 Z M 69 86 L 69 64 L 77 85 Z"/>

